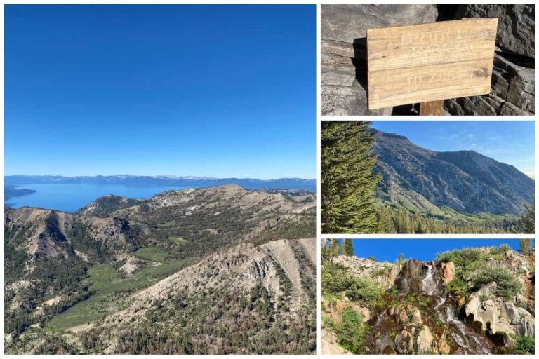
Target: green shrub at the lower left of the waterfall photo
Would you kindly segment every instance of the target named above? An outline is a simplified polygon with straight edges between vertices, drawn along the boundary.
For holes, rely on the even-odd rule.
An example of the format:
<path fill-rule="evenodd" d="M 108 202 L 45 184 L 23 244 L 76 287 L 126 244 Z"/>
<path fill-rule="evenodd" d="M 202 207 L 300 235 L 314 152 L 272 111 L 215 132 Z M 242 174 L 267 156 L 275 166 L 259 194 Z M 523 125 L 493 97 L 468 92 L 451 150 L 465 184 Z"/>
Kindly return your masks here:
<path fill-rule="evenodd" d="M 361 353 L 368 327 L 358 313 L 346 308 L 342 311 L 340 324 L 336 329 L 337 341 L 342 348 L 354 354 Z"/>

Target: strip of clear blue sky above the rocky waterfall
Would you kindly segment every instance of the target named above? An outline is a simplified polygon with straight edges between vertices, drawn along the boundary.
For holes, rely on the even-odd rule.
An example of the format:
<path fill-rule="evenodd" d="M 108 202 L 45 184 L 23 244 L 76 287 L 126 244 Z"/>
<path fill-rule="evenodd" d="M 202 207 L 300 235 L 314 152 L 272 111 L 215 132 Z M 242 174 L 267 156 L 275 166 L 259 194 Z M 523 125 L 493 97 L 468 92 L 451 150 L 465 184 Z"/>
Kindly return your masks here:
<path fill-rule="evenodd" d="M 470 247 L 491 247 L 507 243 L 519 250 L 518 239 L 354 239 L 354 254 L 359 258 L 375 257 L 380 262 L 393 262 L 404 253 L 404 257 L 430 261 L 437 253 Z M 535 241 L 534 241 L 535 243 Z"/>

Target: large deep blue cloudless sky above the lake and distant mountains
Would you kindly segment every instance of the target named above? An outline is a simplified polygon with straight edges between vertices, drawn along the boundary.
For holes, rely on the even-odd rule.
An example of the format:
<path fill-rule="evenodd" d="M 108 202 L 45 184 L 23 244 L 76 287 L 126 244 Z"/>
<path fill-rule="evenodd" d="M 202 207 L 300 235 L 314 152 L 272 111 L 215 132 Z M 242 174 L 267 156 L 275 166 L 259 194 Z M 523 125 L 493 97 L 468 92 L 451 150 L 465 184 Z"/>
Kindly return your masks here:
<path fill-rule="evenodd" d="M 6 175 L 316 177 L 315 14 L 6 6 Z"/>

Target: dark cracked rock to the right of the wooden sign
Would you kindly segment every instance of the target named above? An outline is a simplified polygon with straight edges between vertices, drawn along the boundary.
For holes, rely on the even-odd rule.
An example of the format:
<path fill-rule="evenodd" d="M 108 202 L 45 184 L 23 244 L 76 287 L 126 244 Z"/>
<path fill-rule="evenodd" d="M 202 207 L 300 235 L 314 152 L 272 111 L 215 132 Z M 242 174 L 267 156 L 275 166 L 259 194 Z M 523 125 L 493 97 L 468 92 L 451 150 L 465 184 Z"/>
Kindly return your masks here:
<path fill-rule="evenodd" d="M 498 18 L 491 93 L 446 100 L 453 115 L 535 114 L 535 5 L 472 4 L 455 18 Z M 439 6 L 444 12 L 444 6 Z"/>

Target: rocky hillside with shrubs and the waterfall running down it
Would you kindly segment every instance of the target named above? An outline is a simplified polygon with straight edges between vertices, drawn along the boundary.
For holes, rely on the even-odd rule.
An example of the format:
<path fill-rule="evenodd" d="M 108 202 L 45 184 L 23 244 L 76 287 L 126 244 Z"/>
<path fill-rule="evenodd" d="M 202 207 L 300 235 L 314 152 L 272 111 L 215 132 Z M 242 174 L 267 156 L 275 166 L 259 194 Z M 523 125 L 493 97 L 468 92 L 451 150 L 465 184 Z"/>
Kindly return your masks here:
<path fill-rule="evenodd" d="M 335 351 L 338 344 L 369 354 L 533 353 L 534 256 L 502 245 L 442 253 L 436 262 L 335 257 L 322 270 L 324 330 L 333 335 L 326 335 L 333 343 L 322 348 Z M 334 290 L 338 283 L 356 284 Z M 350 318 L 359 321 L 356 331 L 347 330 Z"/>

